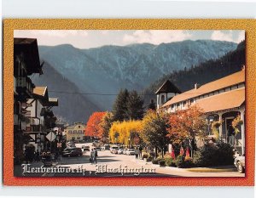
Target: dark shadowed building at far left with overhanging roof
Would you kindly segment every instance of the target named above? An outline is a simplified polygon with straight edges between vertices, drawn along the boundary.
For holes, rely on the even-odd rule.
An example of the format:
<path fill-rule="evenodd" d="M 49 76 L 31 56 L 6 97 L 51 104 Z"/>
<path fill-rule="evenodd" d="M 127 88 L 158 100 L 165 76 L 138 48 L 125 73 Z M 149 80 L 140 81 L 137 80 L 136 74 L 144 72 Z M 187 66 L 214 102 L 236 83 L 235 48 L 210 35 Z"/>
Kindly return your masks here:
<path fill-rule="evenodd" d="M 28 143 L 26 102 L 32 98 L 34 84 L 29 76 L 42 74 L 38 54 L 38 42 L 33 38 L 14 38 L 14 141 L 15 163 L 23 157 L 23 145 Z"/>

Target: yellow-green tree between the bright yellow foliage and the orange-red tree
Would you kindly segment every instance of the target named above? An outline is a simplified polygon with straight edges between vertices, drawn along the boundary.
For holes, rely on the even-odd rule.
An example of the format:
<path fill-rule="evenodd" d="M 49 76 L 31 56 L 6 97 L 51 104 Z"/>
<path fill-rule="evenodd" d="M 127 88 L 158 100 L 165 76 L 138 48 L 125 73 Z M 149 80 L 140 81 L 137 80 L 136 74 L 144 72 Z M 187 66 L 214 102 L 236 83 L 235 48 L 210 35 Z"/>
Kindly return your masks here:
<path fill-rule="evenodd" d="M 166 123 L 166 116 L 154 110 L 148 110 L 143 118 L 141 137 L 146 144 L 154 146 L 155 156 L 157 156 L 157 149 L 162 150 L 162 156 L 164 156 L 166 146 L 170 142 Z"/>

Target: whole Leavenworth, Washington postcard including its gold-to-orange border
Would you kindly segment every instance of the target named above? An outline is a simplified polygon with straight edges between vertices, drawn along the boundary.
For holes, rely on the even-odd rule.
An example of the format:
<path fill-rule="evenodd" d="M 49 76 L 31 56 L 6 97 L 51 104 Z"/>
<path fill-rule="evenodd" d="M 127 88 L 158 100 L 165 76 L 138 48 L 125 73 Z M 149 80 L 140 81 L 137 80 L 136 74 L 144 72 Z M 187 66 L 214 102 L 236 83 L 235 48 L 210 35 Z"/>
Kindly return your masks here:
<path fill-rule="evenodd" d="M 254 20 L 3 25 L 4 184 L 254 184 Z"/>

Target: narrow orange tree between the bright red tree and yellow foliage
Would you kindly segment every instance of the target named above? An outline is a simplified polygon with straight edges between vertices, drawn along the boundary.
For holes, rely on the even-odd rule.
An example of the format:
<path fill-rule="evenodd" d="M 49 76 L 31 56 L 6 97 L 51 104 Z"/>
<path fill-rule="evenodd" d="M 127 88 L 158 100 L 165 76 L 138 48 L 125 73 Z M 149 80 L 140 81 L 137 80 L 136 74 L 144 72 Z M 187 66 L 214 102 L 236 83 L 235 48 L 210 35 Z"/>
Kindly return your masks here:
<path fill-rule="evenodd" d="M 99 134 L 101 139 L 108 139 L 109 129 L 113 123 L 113 113 L 106 112 L 106 114 L 102 117 L 102 121 L 100 122 Z"/>

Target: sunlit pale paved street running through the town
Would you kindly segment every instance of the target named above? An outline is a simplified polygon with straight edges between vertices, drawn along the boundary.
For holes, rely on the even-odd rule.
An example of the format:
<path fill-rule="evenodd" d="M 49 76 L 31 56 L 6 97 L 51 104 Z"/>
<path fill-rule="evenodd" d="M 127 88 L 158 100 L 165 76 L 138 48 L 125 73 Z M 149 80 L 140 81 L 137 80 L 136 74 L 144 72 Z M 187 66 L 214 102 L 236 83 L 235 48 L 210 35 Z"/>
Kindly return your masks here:
<path fill-rule="evenodd" d="M 91 144 L 86 144 L 91 145 Z M 82 144 L 77 144 L 81 147 Z M 176 167 L 159 167 L 151 162 L 136 160 L 135 156 L 114 155 L 109 150 L 98 151 L 97 164 L 90 164 L 90 152 L 84 156 L 63 157 L 57 167 L 62 172 L 46 174 L 49 177 L 244 177 L 237 172 L 191 173 Z M 70 168 L 70 169 L 69 169 Z M 68 173 L 65 173 L 67 172 Z M 108 173 L 106 173 L 108 171 Z M 77 173 L 79 172 L 79 173 Z M 141 172 L 141 173 L 139 173 Z M 123 174 L 122 174 L 123 173 Z"/>

